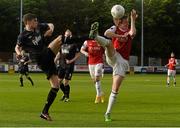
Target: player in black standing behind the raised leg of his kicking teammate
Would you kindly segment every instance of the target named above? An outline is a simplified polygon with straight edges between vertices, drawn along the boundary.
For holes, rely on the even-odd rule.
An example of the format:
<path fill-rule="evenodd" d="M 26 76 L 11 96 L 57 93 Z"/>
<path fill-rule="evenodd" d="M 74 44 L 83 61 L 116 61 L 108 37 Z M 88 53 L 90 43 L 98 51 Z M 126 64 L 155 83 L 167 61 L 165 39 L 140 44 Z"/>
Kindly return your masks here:
<path fill-rule="evenodd" d="M 79 39 L 74 38 L 72 36 L 72 32 L 67 29 L 62 38 L 62 45 L 60 51 L 55 58 L 55 62 L 59 65 L 58 76 L 60 81 L 60 88 L 64 94 L 61 100 L 64 102 L 69 101 L 69 81 L 71 80 L 72 74 L 74 72 L 75 61 L 80 56 L 80 49 L 76 41 L 79 41 Z"/>

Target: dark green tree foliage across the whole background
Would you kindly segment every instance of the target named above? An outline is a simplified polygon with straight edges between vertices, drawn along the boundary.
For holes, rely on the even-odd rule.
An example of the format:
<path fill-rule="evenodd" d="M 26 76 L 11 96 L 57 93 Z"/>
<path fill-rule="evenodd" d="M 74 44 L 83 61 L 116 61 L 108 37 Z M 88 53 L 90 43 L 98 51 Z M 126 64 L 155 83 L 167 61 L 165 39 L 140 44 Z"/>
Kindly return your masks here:
<path fill-rule="evenodd" d="M 140 56 L 142 0 L 23 0 L 24 13 L 38 15 L 40 22 L 52 22 L 54 35 L 70 28 L 75 35 L 88 34 L 90 24 L 100 22 L 100 34 L 112 23 L 110 9 L 114 4 L 125 7 L 126 13 L 138 12 L 137 36 L 132 54 Z M 145 56 L 165 57 L 171 51 L 180 55 L 180 4 L 177 0 L 144 0 Z M 13 51 L 19 33 L 20 0 L 0 1 L 0 51 Z M 10 30 L 9 30 L 10 29 Z M 160 46 L 160 47 L 159 47 Z M 5 48 L 4 48 L 5 47 Z M 157 50 L 156 50 L 157 49 Z"/>

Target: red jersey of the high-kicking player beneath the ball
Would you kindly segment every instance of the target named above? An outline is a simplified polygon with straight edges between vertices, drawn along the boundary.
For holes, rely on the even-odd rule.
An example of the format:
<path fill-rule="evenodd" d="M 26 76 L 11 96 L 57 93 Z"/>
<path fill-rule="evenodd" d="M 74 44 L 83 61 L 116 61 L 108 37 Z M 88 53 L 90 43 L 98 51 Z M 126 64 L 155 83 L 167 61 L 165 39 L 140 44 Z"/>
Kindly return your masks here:
<path fill-rule="evenodd" d="M 129 32 L 129 30 L 122 31 L 116 27 L 116 31 L 115 31 L 116 34 L 124 35 L 127 32 Z M 122 38 L 112 38 L 112 43 L 116 51 L 119 52 L 124 59 L 129 60 L 129 56 L 131 52 L 131 44 L 132 44 L 131 36 L 128 35 Z"/>

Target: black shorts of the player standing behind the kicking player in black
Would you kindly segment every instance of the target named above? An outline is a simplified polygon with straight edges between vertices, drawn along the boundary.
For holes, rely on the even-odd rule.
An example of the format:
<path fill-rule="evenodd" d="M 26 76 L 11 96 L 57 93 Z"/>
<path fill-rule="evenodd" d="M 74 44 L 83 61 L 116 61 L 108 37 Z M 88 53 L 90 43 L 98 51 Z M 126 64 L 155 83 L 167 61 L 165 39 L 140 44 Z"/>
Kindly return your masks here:
<path fill-rule="evenodd" d="M 66 65 L 65 67 L 58 67 L 58 77 L 60 79 L 71 80 L 74 72 L 74 64 Z"/>

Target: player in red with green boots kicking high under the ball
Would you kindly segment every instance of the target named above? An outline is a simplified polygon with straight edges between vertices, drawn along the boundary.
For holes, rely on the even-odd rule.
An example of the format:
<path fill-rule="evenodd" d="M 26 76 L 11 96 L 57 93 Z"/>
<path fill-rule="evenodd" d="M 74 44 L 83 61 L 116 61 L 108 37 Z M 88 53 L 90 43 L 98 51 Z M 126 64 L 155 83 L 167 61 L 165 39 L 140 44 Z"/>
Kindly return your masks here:
<path fill-rule="evenodd" d="M 109 102 L 105 121 L 111 121 L 111 110 L 115 103 L 120 85 L 129 68 L 129 56 L 131 51 L 131 42 L 136 34 L 135 21 L 137 14 L 135 10 L 131 11 L 131 25 L 129 28 L 128 16 L 113 18 L 114 26 L 105 31 L 105 36 L 112 40 L 98 35 L 98 22 L 91 25 L 89 37 L 95 39 L 101 46 L 105 47 L 107 63 L 113 68 L 112 91 L 109 96 Z"/>

